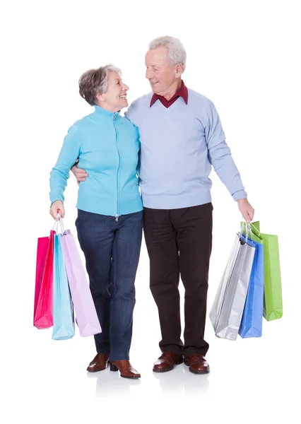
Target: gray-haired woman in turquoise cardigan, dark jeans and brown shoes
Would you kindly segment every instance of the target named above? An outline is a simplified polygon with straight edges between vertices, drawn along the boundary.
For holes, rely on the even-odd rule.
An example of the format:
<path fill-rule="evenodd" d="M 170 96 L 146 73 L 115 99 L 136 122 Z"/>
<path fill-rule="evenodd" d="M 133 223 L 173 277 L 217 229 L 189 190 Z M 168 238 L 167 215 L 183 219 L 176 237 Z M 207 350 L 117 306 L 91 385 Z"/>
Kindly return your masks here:
<path fill-rule="evenodd" d="M 143 206 L 137 178 L 138 129 L 119 115 L 128 106 L 127 90 L 121 72 L 111 65 L 81 76 L 79 93 L 95 111 L 73 124 L 64 139 L 50 176 L 50 213 L 64 217 L 64 190 L 78 158 L 89 178 L 79 184 L 76 229 L 102 327 L 95 335 L 97 355 L 87 370 L 105 370 L 110 361 L 111 371 L 138 378 L 129 349 Z"/>

